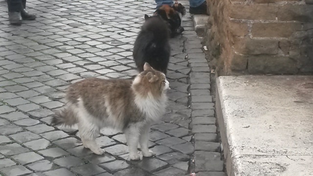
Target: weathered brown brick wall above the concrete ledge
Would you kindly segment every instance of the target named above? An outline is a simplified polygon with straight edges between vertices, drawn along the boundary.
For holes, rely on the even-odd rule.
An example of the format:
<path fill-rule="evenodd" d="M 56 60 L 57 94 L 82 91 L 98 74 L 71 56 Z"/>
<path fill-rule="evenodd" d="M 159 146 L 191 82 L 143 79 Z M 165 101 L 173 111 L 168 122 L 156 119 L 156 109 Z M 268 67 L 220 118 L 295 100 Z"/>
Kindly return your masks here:
<path fill-rule="evenodd" d="M 218 75 L 313 73 L 313 0 L 207 0 Z"/>

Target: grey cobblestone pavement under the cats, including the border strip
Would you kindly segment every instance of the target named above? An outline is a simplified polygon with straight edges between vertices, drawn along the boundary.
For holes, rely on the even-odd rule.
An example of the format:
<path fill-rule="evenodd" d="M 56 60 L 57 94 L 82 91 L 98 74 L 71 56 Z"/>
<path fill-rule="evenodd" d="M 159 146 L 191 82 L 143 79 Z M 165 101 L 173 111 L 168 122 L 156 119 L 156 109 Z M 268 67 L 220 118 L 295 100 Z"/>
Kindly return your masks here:
<path fill-rule="evenodd" d="M 94 155 L 76 131 L 51 127 L 49 116 L 73 82 L 137 73 L 132 48 L 154 0 L 28 0 L 27 7 L 38 18 L 10 26 L 0 1 L 0 175 L 224 176 L 210 70 L 189 13 L 185 32 L 171 40 L 170 105 L 150 132 L 156 156 L 130 161 L 121 132 L 103 129 L 97 141 L 107 153 Z"/>

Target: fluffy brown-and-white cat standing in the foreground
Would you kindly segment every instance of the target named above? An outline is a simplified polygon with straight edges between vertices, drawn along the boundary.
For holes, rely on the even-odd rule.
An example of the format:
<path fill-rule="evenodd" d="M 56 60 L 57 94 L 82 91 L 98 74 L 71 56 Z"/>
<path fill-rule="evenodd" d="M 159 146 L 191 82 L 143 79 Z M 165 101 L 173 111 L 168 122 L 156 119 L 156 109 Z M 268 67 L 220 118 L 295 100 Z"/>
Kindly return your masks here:
<path fill-rule="evenodd" d="M 120 129 L 126 135 L 130 159 L 140 159 L 138 143 L 143 156 L 149 157 L 153 155 L 148 149 L 150 125 L 165 113 L 167 89 L 164 73 L 148 63 L 133 81 L 85 79 L 67 88 L 67 103 L 55 112 L 51 124 L 78 124 L 84 147 L 94 154 L 105 152 L 95 141 L 102 127 Z"/>

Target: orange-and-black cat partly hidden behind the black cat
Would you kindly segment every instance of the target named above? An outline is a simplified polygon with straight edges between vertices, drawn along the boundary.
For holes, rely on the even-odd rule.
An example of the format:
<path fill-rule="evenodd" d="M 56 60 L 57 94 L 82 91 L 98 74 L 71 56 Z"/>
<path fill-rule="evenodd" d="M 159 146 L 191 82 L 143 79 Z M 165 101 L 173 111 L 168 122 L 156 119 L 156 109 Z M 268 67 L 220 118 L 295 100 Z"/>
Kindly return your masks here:
<path fill-rule="evenodd" d="M 156 9 L 154 16 L 161 16 L 164 21 L 167 22 L 171 37 L 175 37 L 180 34 L 184 28 L 181 27 L 181 16 L 184 16 L 186 9 L 181 3 L 175 3 L 173 6 L 163 4 Z"/>

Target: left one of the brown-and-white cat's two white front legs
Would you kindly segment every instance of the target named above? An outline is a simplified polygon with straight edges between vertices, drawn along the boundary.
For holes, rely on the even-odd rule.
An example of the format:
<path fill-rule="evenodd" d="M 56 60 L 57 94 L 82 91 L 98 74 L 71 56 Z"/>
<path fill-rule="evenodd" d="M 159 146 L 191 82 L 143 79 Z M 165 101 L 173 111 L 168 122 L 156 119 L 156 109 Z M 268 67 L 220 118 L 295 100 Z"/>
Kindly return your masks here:
<path fill-rule="evenodd" d="M 132 124 L 124 130 L 131 160 L 140 159 L 140 155 L 137 151 L 137 146 L 139 142 L 139 131 L 140 129 L 137 127 L 136 124 Z"/>

